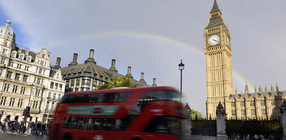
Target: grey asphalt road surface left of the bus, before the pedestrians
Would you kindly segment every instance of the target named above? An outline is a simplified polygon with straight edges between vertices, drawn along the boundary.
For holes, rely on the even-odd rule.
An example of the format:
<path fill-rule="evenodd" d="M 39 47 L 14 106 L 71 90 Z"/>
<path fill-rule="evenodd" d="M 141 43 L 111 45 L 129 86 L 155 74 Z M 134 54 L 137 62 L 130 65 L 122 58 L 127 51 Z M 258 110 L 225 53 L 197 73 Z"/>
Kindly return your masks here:
<path fill-rule="evenodd" d="M 40 137 L 40 136 L 31 136 L 29 134 L 19 134 L 19 133 L 8 133 L 8 132 L 0 132 L 0 140 L 47 140 L 47 137 Z"/>

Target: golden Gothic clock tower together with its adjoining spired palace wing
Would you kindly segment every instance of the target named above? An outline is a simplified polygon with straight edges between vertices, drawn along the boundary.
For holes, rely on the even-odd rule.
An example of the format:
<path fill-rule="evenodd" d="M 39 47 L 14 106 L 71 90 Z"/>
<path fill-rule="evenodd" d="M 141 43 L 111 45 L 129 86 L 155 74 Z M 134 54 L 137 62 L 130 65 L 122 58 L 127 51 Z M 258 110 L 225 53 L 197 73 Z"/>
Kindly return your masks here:
<path fill-rule="evenodd" d="M 264 91 L 261 87 L 255 93 L 249 93 L 248 85 L 244 93 L 233 94 L 232 83 L 232 45 L 230 32 L 223 23 L 219 6 L 214 5 L 209 15 L 209 24 L 205 27 L 205 57 L 207 73 L 207 118 L 216 117 L 219 102 L 225 107 L 229 119 L 273 119 L 280 116 L 278 109 L 286 98 L 286 91 L 279 91 L 271 85 Z"/>

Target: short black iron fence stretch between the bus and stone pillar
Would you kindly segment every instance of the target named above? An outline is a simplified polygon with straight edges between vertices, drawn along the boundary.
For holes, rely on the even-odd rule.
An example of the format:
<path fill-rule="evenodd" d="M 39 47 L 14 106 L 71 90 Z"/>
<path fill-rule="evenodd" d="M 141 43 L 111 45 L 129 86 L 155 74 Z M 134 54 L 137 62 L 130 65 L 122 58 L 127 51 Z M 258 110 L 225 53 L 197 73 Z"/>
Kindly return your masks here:
<path fill-rule="evenodd" d="M 216 120 L 191 120 L 191 134 L 216 137 Z"/>

